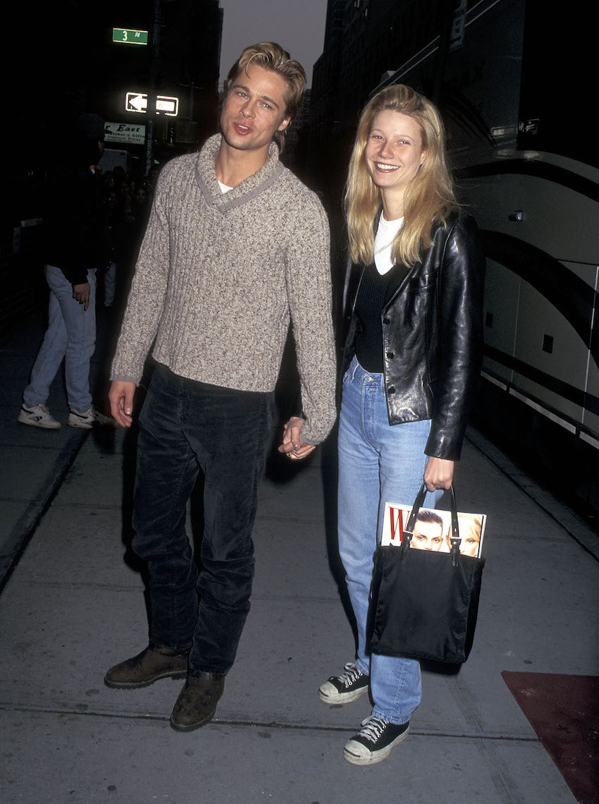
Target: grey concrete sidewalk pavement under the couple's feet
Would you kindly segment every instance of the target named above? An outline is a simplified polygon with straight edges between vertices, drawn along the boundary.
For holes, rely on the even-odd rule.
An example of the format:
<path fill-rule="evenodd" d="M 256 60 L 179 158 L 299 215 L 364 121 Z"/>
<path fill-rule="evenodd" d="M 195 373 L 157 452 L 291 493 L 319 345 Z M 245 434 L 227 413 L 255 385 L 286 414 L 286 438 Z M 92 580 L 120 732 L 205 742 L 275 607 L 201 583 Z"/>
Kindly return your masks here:
<path fill-rule="evenodd" d="M 316 694 L 354 650 L 332 443 L 304 465 L 269 463 L 252 609 L 214 720 L 169 727 L 181 681 L 105 687 L 108 667 L 147 643 L 128 549 L 134 437 L 16 424 L 35 326 L 0 351 L 5 562 L 19 532 L 29 539 L 0 597 L 2 802 L 576 801 L 500 674 L 599 675 L 599 540 L 474 430 L 456 486 L 462 511 L 488 514 L 475 645 L 457 675 L 423 674 L 410 736 L 388 760 L 344 761 L 369 703 L 329 707 Z M 66 420 L 60 394 L 58 382 L 51 410 Z"/>

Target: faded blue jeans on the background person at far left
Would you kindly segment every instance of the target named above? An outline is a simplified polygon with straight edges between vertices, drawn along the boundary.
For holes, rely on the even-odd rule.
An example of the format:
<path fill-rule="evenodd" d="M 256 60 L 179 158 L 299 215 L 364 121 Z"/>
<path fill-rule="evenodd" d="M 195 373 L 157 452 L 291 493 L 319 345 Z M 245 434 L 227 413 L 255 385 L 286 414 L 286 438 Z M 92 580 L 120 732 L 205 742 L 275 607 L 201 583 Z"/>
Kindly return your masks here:
<path fill-rule="evenodd" d="M 54 265 L 44 269 L 50 286 L 48 328 L 23 392 L 28 408 L 46 404 L 50 386 L 64 358 L 64 379 L 69 408 L 84 411 L 92 405 L 89 392 L 89 362 L 96 345 L 96 270 L 88 271 L 89 306 L 73 298 L 73 286 Z"/>

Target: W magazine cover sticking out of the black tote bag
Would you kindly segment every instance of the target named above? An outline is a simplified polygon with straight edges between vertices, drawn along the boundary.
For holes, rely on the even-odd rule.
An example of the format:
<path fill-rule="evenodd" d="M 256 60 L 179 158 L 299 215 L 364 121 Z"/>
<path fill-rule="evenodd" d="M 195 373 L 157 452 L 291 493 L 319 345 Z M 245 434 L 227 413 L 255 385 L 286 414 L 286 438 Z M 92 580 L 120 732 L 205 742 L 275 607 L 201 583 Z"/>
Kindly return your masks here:
<path fill-rule="evenodd" d="M 401 535 L 410 519 L 412 506 L 385 503 L 385 519 L 381 545 L 388 544 L 399 547 Z M 462 556 L 481 558 L 483 555 L 483 537 L 487 516 L 485 514 L 462 514 L 458 511 L 458 529 L 461 539 L 459 552 Z M 449 511 L 433 511 L 421 508 L 414 523 L 414 535 L 410 548 L 430 550 L 431 552 L 450 552 L 451 514 Z"/>

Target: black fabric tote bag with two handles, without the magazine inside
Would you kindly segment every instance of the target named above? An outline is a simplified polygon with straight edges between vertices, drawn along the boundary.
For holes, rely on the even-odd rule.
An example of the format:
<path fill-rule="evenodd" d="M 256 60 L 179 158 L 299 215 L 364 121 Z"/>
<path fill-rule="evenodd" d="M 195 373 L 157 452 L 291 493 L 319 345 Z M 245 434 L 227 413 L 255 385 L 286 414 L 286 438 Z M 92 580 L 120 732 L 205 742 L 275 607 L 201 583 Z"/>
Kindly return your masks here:
<path fill-rule="evenodd" d="M 484 559 L 462 556 L 459 552 L 453 486 L 451 551 L 410 549 L 414 523 L 425 496 L 423 484 L 401 546 L 377 548 L 370 649 L 385 656 L 461 664 L 470 654 L 475 635 Z"/>

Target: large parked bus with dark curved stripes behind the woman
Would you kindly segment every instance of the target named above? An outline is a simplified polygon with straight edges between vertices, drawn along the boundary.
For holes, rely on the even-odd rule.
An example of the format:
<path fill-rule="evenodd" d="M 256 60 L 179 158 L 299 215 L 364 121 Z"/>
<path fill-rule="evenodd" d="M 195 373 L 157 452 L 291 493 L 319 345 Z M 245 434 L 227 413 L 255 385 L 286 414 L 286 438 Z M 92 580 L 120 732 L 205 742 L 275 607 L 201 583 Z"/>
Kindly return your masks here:
<path fill-rule="evenodd" d="M 475 421 L 599 510 L 599 170 L 590 19 L 579 4 L 457 3 L 377 89 L 438 101 L 487 254 Z M 578 10 L 577 10 L 578 9 Z M 461 24 L 460 24 L 461 23 Z M 597 47 L 597 46 L 595 46 Z"/>

